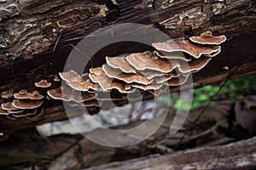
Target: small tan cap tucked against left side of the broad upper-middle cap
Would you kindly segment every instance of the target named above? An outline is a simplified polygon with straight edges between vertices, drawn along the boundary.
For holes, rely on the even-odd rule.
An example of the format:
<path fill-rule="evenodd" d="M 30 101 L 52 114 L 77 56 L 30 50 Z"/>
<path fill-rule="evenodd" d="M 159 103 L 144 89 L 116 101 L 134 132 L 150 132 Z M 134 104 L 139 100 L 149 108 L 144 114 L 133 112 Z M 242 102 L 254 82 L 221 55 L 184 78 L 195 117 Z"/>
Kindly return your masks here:
<path fill-rule="evenodd" d="M 106 57 L 107 64 L 114 69 L 125 73 L 136 73 L 136 70 L 127 62 L 126 57 Z"/>

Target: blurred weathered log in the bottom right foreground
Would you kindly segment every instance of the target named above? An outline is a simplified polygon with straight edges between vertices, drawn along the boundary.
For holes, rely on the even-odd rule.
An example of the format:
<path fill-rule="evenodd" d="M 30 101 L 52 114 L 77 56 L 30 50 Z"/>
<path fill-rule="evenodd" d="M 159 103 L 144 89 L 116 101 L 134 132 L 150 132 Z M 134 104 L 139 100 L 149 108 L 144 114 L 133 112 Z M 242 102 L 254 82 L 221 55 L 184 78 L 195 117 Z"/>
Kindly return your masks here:
<path fill-rule="evenodd" d="M 113 162 L 94 169 L 254 169 L 256 138 L 222 146 L 179 151 L 166 156 L 149 156 Z"/>

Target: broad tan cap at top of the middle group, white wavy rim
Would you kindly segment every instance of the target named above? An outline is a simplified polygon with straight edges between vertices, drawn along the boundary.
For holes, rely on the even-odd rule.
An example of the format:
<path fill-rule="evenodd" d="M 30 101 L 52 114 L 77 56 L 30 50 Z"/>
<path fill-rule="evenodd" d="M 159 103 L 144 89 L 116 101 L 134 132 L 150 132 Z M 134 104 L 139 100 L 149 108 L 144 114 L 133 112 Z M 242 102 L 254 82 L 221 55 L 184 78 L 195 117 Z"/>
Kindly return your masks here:
<path fill-rule="evenodd" d="M 175 69 L 178 65 L 178 62 L 175 60 L 171 61 L 169 59 L 160 58 L 149 51 L 131 54 L 127 56 L 126 59 L 129 64 L 134 66 L 138 71 L 149 69 L 167 73 Z"/>

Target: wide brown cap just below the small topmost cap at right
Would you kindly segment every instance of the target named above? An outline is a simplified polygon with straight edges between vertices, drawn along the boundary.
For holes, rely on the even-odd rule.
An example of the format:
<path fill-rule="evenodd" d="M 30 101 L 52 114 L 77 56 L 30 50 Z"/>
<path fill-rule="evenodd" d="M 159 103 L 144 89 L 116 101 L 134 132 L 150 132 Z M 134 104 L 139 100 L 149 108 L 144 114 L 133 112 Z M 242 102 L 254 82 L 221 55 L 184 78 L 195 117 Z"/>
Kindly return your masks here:
<path fill-rule="evenodd" d="M 153 43 L 154 48 L 166 52 L 178 52 L 183 51 L 193 57 L 200 58 L 201 54 L 212 54 L 220 50 L 220 46 L 204 46 L 200 44 L 194 44 L 183 38 L 177 38 L 167 42 Z"/>

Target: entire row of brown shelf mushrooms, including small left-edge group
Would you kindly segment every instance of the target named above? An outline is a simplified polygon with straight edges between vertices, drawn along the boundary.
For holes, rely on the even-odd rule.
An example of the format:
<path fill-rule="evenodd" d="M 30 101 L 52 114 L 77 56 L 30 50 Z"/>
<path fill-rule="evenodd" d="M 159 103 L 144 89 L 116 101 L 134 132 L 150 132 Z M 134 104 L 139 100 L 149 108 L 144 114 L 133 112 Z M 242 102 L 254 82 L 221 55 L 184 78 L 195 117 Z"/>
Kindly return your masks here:
<path fill-rule="evenodd" d="M 0 115 L 38 116 L 44 111 L 41 106 L 44 99 L 70 101 L 68 105 L 85 106 L 90 114 L 96 114 L 103 107 L 110 109 L 137 100 L 141 97 L 135 93 L 137 90 L 140 94 L 158 96 L 170 87 L 185 83 L 191 73 L 200 71 L 220 53 L 219 45 L 225 40 L 225 36 L 212 36 L 212 32 L 206 31 L 189 39 L 154 42 L 153 52 L 106 57 L 104 65 L 90 68 L 82 75 L 73 70 L 60 72 L 54 83 L 66 82 L 61 87 L 50 88 L 52 83 L 46 80 L 35 82 L 35 87 L 47 88 L 48 95 L 20 90 L 12 100 L 1 105 Z M 104 102 L 109 100 L 112 102 Z"/>

